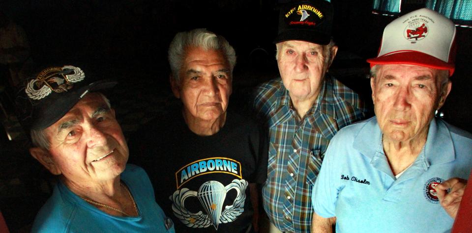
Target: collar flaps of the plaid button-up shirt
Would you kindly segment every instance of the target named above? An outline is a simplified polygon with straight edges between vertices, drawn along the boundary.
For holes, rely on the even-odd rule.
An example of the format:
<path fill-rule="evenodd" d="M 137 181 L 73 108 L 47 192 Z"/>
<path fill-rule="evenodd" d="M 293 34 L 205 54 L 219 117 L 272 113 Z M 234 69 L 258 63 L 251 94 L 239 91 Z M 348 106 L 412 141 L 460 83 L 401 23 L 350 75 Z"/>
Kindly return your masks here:
<path fill-rule="evenodd" d="M 290 108 L 293 107 L 293 104 L 289 95 L 289 91 L 285 88 L 282 81 L 280 83 L 278 96 L 275 102 L 272 126 L 283 124 L 292 117 L 290 114 Z M 324 77 L 320 93 L 318 94 L 318 97 L 311 109 L 307 112 L 307 117 L 313 117 L 314 113 L 316 112 L 324 114 L 329 118 L 336 119 L 333 80 L 328 74 L 326 74 Z"/>

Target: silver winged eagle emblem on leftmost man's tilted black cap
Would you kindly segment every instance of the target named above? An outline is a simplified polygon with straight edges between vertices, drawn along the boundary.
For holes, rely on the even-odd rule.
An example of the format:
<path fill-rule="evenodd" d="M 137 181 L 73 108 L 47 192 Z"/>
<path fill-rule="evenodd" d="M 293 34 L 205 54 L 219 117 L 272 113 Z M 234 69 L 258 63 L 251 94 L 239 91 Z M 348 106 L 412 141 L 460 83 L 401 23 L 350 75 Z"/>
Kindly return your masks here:
<path fill-rule="evenodd" d="M 72 89 L 73 83 L 84 80 L 85 74 L 75 66 L 49 67 L 29 81 L 25 92 L 30 99 L 40 100 L 52 91 L 61 93 Z"/>

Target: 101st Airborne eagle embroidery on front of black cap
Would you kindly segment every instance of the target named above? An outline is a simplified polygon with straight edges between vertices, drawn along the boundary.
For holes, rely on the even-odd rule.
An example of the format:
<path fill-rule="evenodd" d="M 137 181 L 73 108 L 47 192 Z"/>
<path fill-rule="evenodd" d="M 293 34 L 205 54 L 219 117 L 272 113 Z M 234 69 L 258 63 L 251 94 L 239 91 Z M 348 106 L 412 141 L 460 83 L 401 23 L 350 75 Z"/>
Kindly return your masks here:
<path fill-rule="evenodd" d="M 323 20 L 324 13 L 310 4 L 297 4 L 285 12 L 285 23 L 290 26 L 317 26 Z"/>

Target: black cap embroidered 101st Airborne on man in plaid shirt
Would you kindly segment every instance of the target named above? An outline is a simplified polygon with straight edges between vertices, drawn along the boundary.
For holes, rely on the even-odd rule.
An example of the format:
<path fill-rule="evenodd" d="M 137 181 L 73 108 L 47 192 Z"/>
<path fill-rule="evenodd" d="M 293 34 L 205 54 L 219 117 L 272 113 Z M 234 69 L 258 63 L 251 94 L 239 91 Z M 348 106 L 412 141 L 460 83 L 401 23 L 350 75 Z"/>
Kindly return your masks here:
<path fill-rule="evenodd" d="M 280 9 L 279 31 L 274 43 L 301 40 L 327 45 L 331 40 L 333 6 L 326 0 L 285 3 Z"/>

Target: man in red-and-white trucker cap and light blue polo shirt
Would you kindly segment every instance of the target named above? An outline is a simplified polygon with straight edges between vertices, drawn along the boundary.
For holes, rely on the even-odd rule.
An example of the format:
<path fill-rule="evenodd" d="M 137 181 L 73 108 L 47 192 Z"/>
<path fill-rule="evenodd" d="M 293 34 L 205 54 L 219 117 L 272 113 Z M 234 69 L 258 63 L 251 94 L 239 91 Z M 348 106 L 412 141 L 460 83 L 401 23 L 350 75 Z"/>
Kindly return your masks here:
<path fill-rule="evenodd" d="M 314 232 L 334 216 L 341 233 L 450 231 L 472 167 L 472 135 L 434 116 L 451 90 L 455 32 L 426 8 L 385 27 L 367 60 L 376 116 L 331 140 L 313 188 Z"/>

